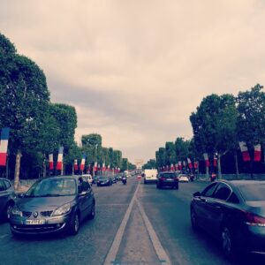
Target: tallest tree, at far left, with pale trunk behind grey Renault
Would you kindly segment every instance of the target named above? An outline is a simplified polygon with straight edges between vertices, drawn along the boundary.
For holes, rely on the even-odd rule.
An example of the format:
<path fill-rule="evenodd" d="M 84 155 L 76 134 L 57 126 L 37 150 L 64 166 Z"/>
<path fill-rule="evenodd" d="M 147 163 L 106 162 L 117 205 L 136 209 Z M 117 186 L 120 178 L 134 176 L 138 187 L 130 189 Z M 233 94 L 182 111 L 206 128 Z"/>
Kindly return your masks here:
<path fill-rule="evenodd" d="M 19 185 L 22 152 L 38 147 L 43 114 L 48 109 L 46 78 L 37 64 L 19 56 L 13 44 L 0 34 L 0 125 L 11 128 L 10 147 L 16 154 L 15 188 Z"/>

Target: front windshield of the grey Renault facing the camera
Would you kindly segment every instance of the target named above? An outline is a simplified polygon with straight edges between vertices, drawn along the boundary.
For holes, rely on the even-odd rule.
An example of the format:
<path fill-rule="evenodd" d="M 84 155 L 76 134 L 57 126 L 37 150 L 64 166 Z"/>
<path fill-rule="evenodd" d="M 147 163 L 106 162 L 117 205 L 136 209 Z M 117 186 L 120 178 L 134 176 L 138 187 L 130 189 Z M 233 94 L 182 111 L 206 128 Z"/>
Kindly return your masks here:
<path fill-rule="evenodd" d="M 73 178 L 46 178 L 38 181 L 26 193 L 26 197 L 57 197 L 76 194 Z"/>

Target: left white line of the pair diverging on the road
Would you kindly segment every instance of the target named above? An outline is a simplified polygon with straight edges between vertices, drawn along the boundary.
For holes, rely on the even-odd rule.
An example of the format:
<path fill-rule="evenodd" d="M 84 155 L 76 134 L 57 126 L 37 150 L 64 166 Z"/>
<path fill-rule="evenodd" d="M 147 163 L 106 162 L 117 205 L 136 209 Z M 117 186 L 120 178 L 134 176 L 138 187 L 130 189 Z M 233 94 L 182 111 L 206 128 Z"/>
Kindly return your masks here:
<path fill-rule="evenodd" d="M 124 216 L 124 219 L 122 221 L 122 223 L 120 224 L 118 230 L 117 230 L 117 234 L 115 236 L 115 239 L 114 241 L 112 242 L 112 245 L 110 246 L 110 251 L 104 261 L 104 265 L 110 265 L 110 264 L 113 264 L 115 259 L 116 259 L 116 255 L 117 255 L 117 251 L 118 251 L 118 248 L 120 246 L 120 242 L 123 238 L 123 234 L 125 232 L 125 226 L 128 222 L 128 219 L 129 219 L 129 216 L 132 212 L 132 208 L 133 208 L 133 203 L 136 199 L 136 193 L 138 192 L 138 189 L 140 187 L 140 184 L 138 184 L 134 194 L 133 194 L 133 199 L 132 201 L 130 202 L 130 205 L 129 207 L 127 208 L 127 211 L 125 213 L 125 216 Z"/>

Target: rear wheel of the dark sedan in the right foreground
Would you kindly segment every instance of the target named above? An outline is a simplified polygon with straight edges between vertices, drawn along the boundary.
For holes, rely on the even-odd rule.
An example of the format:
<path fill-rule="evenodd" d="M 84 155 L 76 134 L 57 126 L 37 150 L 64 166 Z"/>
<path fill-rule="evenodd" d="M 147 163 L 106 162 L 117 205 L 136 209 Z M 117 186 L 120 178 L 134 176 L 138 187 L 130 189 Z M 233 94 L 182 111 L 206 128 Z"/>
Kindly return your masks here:
<path fill-rule="evenodd" d="M 233 242 L 231 230 L 227 226 L 223 226 L 221 231 L 221 242 L 223 254 L 226 258 L 231 259 L 236 254 L 236 248 Z"/>

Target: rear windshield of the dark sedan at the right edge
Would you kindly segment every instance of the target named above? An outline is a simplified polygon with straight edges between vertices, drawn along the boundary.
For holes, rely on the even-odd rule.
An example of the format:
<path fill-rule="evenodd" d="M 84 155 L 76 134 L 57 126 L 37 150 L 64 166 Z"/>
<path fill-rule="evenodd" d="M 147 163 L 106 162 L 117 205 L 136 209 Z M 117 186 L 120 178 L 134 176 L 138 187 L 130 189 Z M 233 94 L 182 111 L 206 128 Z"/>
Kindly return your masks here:
<path fill-rule="evenodd" d="M 245 201 L 265 201 L 265 183 L 241 185 L 239 189 Z"/>

